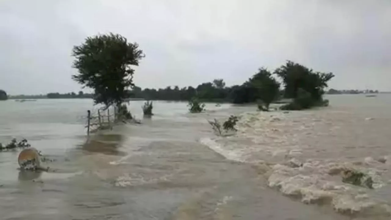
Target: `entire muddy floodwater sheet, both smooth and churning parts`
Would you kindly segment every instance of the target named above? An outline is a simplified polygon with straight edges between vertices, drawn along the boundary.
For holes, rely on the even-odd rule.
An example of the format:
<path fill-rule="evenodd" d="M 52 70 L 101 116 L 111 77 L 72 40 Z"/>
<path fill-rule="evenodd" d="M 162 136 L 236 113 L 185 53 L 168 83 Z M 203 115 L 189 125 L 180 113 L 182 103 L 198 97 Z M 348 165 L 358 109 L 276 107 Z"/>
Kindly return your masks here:
<path fill-rule="evenodd" d="M 26 138 L 54 160 L 49 172 L 22 172 L 18 151 L 0 153 L 2 219 L 389 219 L 391 96 L 328 98 L 328 108 L 288 114 L 155 102 L 151 119 L 133 101 L 142 124 L 90 139 L 91 100 L 0 102 L 0 142 Z M 231 114 L 238 132 L 216 137 L 206 119 Z M 304 165 L 285 166 L 292 159 Z M 327 173 L 342 165 L 368 171 L 375 189 Z"/>

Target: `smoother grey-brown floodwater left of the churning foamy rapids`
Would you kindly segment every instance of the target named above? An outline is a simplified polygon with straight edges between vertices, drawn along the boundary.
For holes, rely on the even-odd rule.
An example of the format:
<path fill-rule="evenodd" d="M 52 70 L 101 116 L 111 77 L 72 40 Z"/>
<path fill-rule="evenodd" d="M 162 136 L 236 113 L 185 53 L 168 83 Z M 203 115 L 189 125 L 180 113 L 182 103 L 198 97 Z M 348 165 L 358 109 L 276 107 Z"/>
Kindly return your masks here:
<path fill-rule="evenodd" d="M 331 103 L 345 108 L 357 104 L 355 99 L 361 101 L 335 96 Z M 186 103 L 156 102 L 156 115 L 143 124 L 116 126 L 87 140 L 83 116 L 91 104 L 0 103 L 0 141 L 25 137 L 55 160 L 47 163 L 53 171 L 22 172 L 18 152 L 0 153 L 2 219 L 351 219 L 283 196 L 267 186 L 262 168 L 200 143 L 213 137 L 206 119 L 254 106 L 207 105 L 209 111 L 194 115 L 187 114 Z M 141 105 L 131 103 L 139 118 Z M 368 105 L 370 112 L 375 105 Z M 386 111 L 377 115 L 388 117 Z"/>

